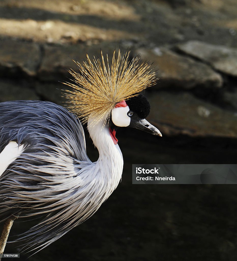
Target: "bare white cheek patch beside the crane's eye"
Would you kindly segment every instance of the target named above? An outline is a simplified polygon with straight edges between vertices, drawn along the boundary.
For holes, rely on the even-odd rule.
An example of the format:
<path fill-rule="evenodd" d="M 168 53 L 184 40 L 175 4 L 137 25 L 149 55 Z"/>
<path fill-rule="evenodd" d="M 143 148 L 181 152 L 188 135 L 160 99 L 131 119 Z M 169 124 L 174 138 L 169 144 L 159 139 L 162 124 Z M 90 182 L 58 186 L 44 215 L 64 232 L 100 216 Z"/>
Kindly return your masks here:
<path fill-rule="evenodd" d="M 118 127 L 127 127 L 131 118 L 127 115 L 129 107 L 116 107 L 112 110 L 112 121 Z"/>

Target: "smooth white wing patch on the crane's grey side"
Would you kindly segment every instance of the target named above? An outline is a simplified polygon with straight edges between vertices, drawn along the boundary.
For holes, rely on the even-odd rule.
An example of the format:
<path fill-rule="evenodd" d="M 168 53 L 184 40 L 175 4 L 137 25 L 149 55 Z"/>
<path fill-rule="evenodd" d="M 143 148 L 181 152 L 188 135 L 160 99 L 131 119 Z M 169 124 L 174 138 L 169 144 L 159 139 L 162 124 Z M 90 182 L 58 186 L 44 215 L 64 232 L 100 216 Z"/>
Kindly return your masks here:
<path fill-rule="evenodd" d="M 0 176 L 7 167 L 21 154 L 23 144 L 18 147 L 15 141 L 10 141 L 4 150 L 0 153 Z"/>

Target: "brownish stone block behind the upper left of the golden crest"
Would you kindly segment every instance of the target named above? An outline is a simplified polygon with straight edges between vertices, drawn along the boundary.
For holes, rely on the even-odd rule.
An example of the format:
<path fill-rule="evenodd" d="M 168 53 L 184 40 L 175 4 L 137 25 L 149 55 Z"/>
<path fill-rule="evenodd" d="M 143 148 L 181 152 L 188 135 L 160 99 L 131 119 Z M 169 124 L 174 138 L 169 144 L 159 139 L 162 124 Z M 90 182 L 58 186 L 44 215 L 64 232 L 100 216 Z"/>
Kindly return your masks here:
<path fill-rule="evenodd" d="M 103 48 L 103 45 L 64 45 L 64 46 L 44 46 L 44 55 L 41 66 L 39 68 L 38 76 L 43 81 L 68 81 L 68 78 L 72 78 L 68 73 L 69 69 L 78 70 L 76 63 L 73 60 L 80 63 L 86 60 L 86 53 L 88 53 L 90 59 L 93 56 L 101 56 L 100 50 L 104 51 L 104 54 L 108 52 L 109 56 L 113 54 L 114 46 L 111 48 L 107 45 Z"/>

